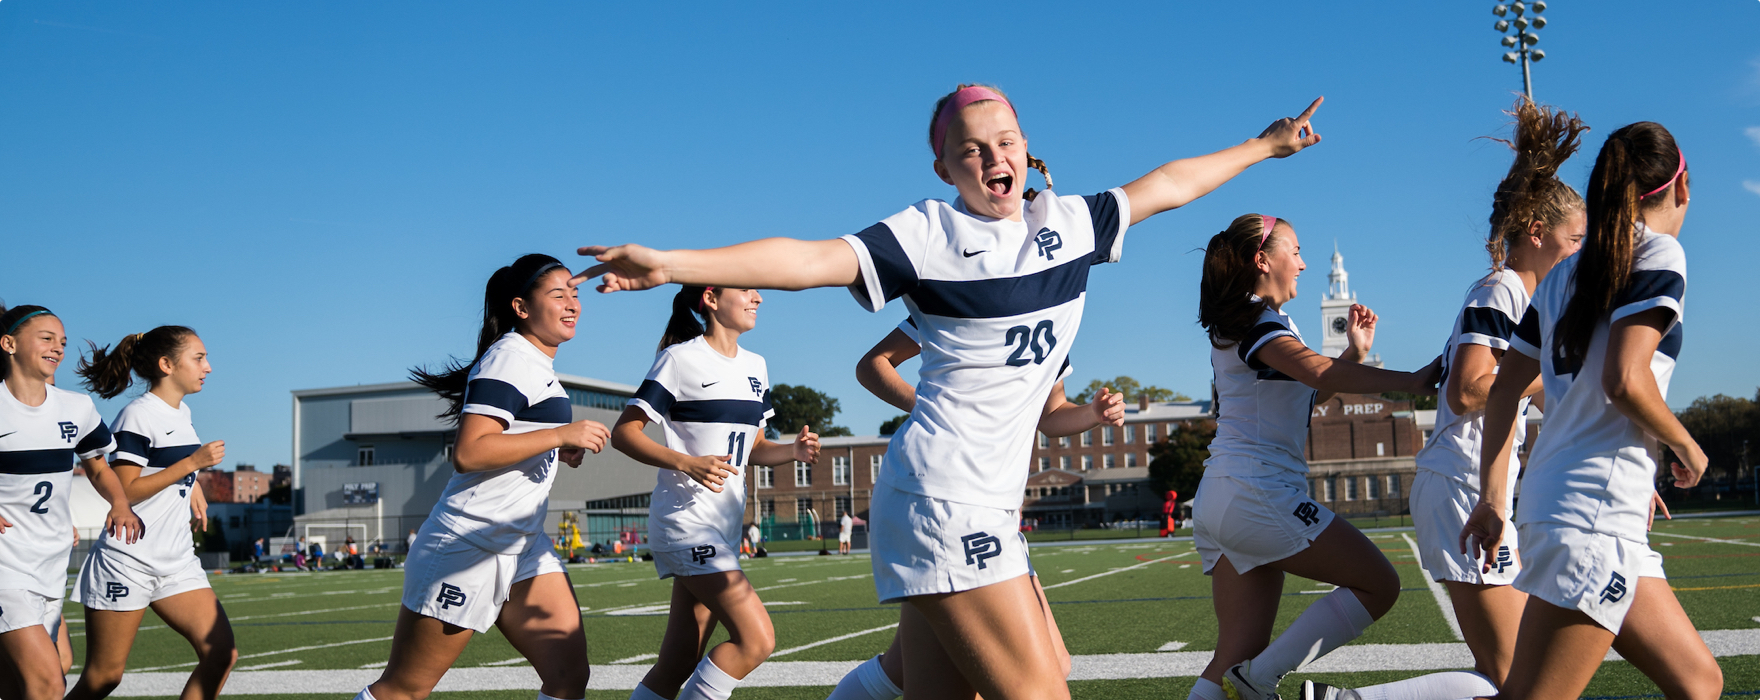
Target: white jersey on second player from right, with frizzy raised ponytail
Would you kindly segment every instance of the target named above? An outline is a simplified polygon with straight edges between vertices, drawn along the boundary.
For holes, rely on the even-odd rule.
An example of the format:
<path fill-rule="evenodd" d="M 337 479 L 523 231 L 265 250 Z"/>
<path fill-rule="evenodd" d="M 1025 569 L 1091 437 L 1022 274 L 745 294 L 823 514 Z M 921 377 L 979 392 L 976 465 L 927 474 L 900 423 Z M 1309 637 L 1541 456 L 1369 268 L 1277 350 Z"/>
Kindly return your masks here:
<path fill-rule="evenodd" d="M 1461 304 L 1461 315 L 1454 320 L 1454 334 L 1441 350 L 1441 387 L 1436 401 L 1436 429 L 1419 450 L 1419 470 L 1448 477 L 1470 491 L 1478 492 L 1478 443 L 1485 427 L 1485 412 L 1477 410 L 1456 415 L 1448 408 L 1448 382 L 1456 380 L 1454 355 L 1463 345 L 1484 345 L 1492 350 L 1508 350 L 1515 338 L 1515 324 L 1528 313 L 1528 288 L 1522 278 L 1512 269 L 1500 269 L 1473 285 Z M 1528 412 L 1528 399 L 1522 399 L 1517 415 Z M 1526 420 L 1515 422 L 1515 445 L 1510 448 L 1510 485 L 1514 491 L 1515 475 L 1521 473 L 1522 440 L 1528 436 Z M 1508 499 L 1508 494 L 1505 494 Z"/>

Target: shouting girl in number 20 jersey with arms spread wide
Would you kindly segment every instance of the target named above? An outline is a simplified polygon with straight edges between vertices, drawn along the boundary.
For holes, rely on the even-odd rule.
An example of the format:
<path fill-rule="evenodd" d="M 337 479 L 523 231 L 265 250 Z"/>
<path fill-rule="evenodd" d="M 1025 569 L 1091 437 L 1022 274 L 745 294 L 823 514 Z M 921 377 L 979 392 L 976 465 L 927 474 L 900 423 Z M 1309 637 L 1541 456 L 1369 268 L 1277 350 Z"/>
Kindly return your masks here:
<path fill-rule="evenodd" d="M 871 522 L 875 587 L 905 602 L 905 675 L 926 696 L 1065 698 L 1019 508 L 1033 429 L 1082 320 L 1088 273 L 1123 257 L 1125 230 L 1241 171 L 1320 142 L 1302 114 L 1243 144 L 1169 162 L 1088 197 L 1030 195 L 1044 167 L 1001 91 L 961 86 L 929 123 L 933 171 L 952 202 L 926 199 L 850 236 L 716 250 L 584 246 L 600 292 L 665 283 L 843 287 L 880 311 L 903 299 L 922 339 L 922 382 L 882 464 Z M 725 695 L 713 695 L 725 698 Z"/>

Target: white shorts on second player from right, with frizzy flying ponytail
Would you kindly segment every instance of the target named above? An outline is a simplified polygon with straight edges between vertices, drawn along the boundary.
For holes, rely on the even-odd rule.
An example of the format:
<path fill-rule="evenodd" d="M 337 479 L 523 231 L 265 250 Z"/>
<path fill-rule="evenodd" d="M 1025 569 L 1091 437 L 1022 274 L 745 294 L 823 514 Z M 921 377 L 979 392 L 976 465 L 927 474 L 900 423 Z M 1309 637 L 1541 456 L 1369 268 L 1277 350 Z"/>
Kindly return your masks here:
<path fill-rule="evenodd" d="M 1491 572 L 1480 573 L 1477 552 L 1461 554 L 1461 528 L 1473 512 L 1478 494 L 1454 478 L 1419 470 L 1412 480 L 1412 526 L 1417 529 L 1419 561 L 1431 580 L 1508 586 L 1522 570 L 1515 524 L 1505 503 L 1503 543 L 1491 559 Z"/>

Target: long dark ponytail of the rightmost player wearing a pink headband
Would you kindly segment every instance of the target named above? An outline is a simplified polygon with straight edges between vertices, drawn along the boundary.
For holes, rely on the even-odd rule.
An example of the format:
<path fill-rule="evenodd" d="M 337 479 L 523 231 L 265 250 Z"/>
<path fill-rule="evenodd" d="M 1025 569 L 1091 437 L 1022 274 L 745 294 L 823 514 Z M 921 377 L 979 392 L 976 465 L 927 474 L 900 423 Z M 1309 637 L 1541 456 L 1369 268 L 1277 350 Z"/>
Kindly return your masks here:
<path fill-rule="evenodd" d="M 1679 165 L 1681 148 L 1654 121 L 1621 127 L 1602 144 L 1595 171 L 1589 171 L 1589 230 L 1570 273 L 1570 303 L 1556 325 L 1556 346 L 1566 359 L 1580 361 L 1589 354 L 1595 327 L 1632 285 L 1642 193 L 1665 186 L 1653 202 L 1674 195 Z"/>

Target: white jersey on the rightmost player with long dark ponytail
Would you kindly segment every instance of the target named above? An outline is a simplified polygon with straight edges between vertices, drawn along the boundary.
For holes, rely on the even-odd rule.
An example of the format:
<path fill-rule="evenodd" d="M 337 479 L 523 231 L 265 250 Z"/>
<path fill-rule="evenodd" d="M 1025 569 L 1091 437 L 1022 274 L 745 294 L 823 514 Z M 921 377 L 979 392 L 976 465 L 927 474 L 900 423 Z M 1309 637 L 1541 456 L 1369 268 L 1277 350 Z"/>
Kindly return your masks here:
<path fill-rule="evenodd" d="M 1540 431 L 1522 477 L 1517 526 L 1554 522 L 1649 542 L 1646 521 L 1651 494 L 1656 492 L 1656 463 L 1644 448 L 1644 431 L 1619 413 L 1602 390 L 1602 368 L 1609 324 L 1640 311 L 1668 310 L 1672 318 L 1651 357 L 1656 389 L 1668 396 L 1686 313 L 1686 253 L 1681 241 L 1642 223 L 1637 236 L 1632 283 L 1614 299 L 1609 318 L 1596 325 L 1580 362 L 1566 361 L 1554 345 L 1558 320 L 1572 297 L 1579 255 L 1565 259 L 1547 274 L 1515 329 L 1512 346 L 1540 361 L 1547 401 L 1545 431 Z"/>

